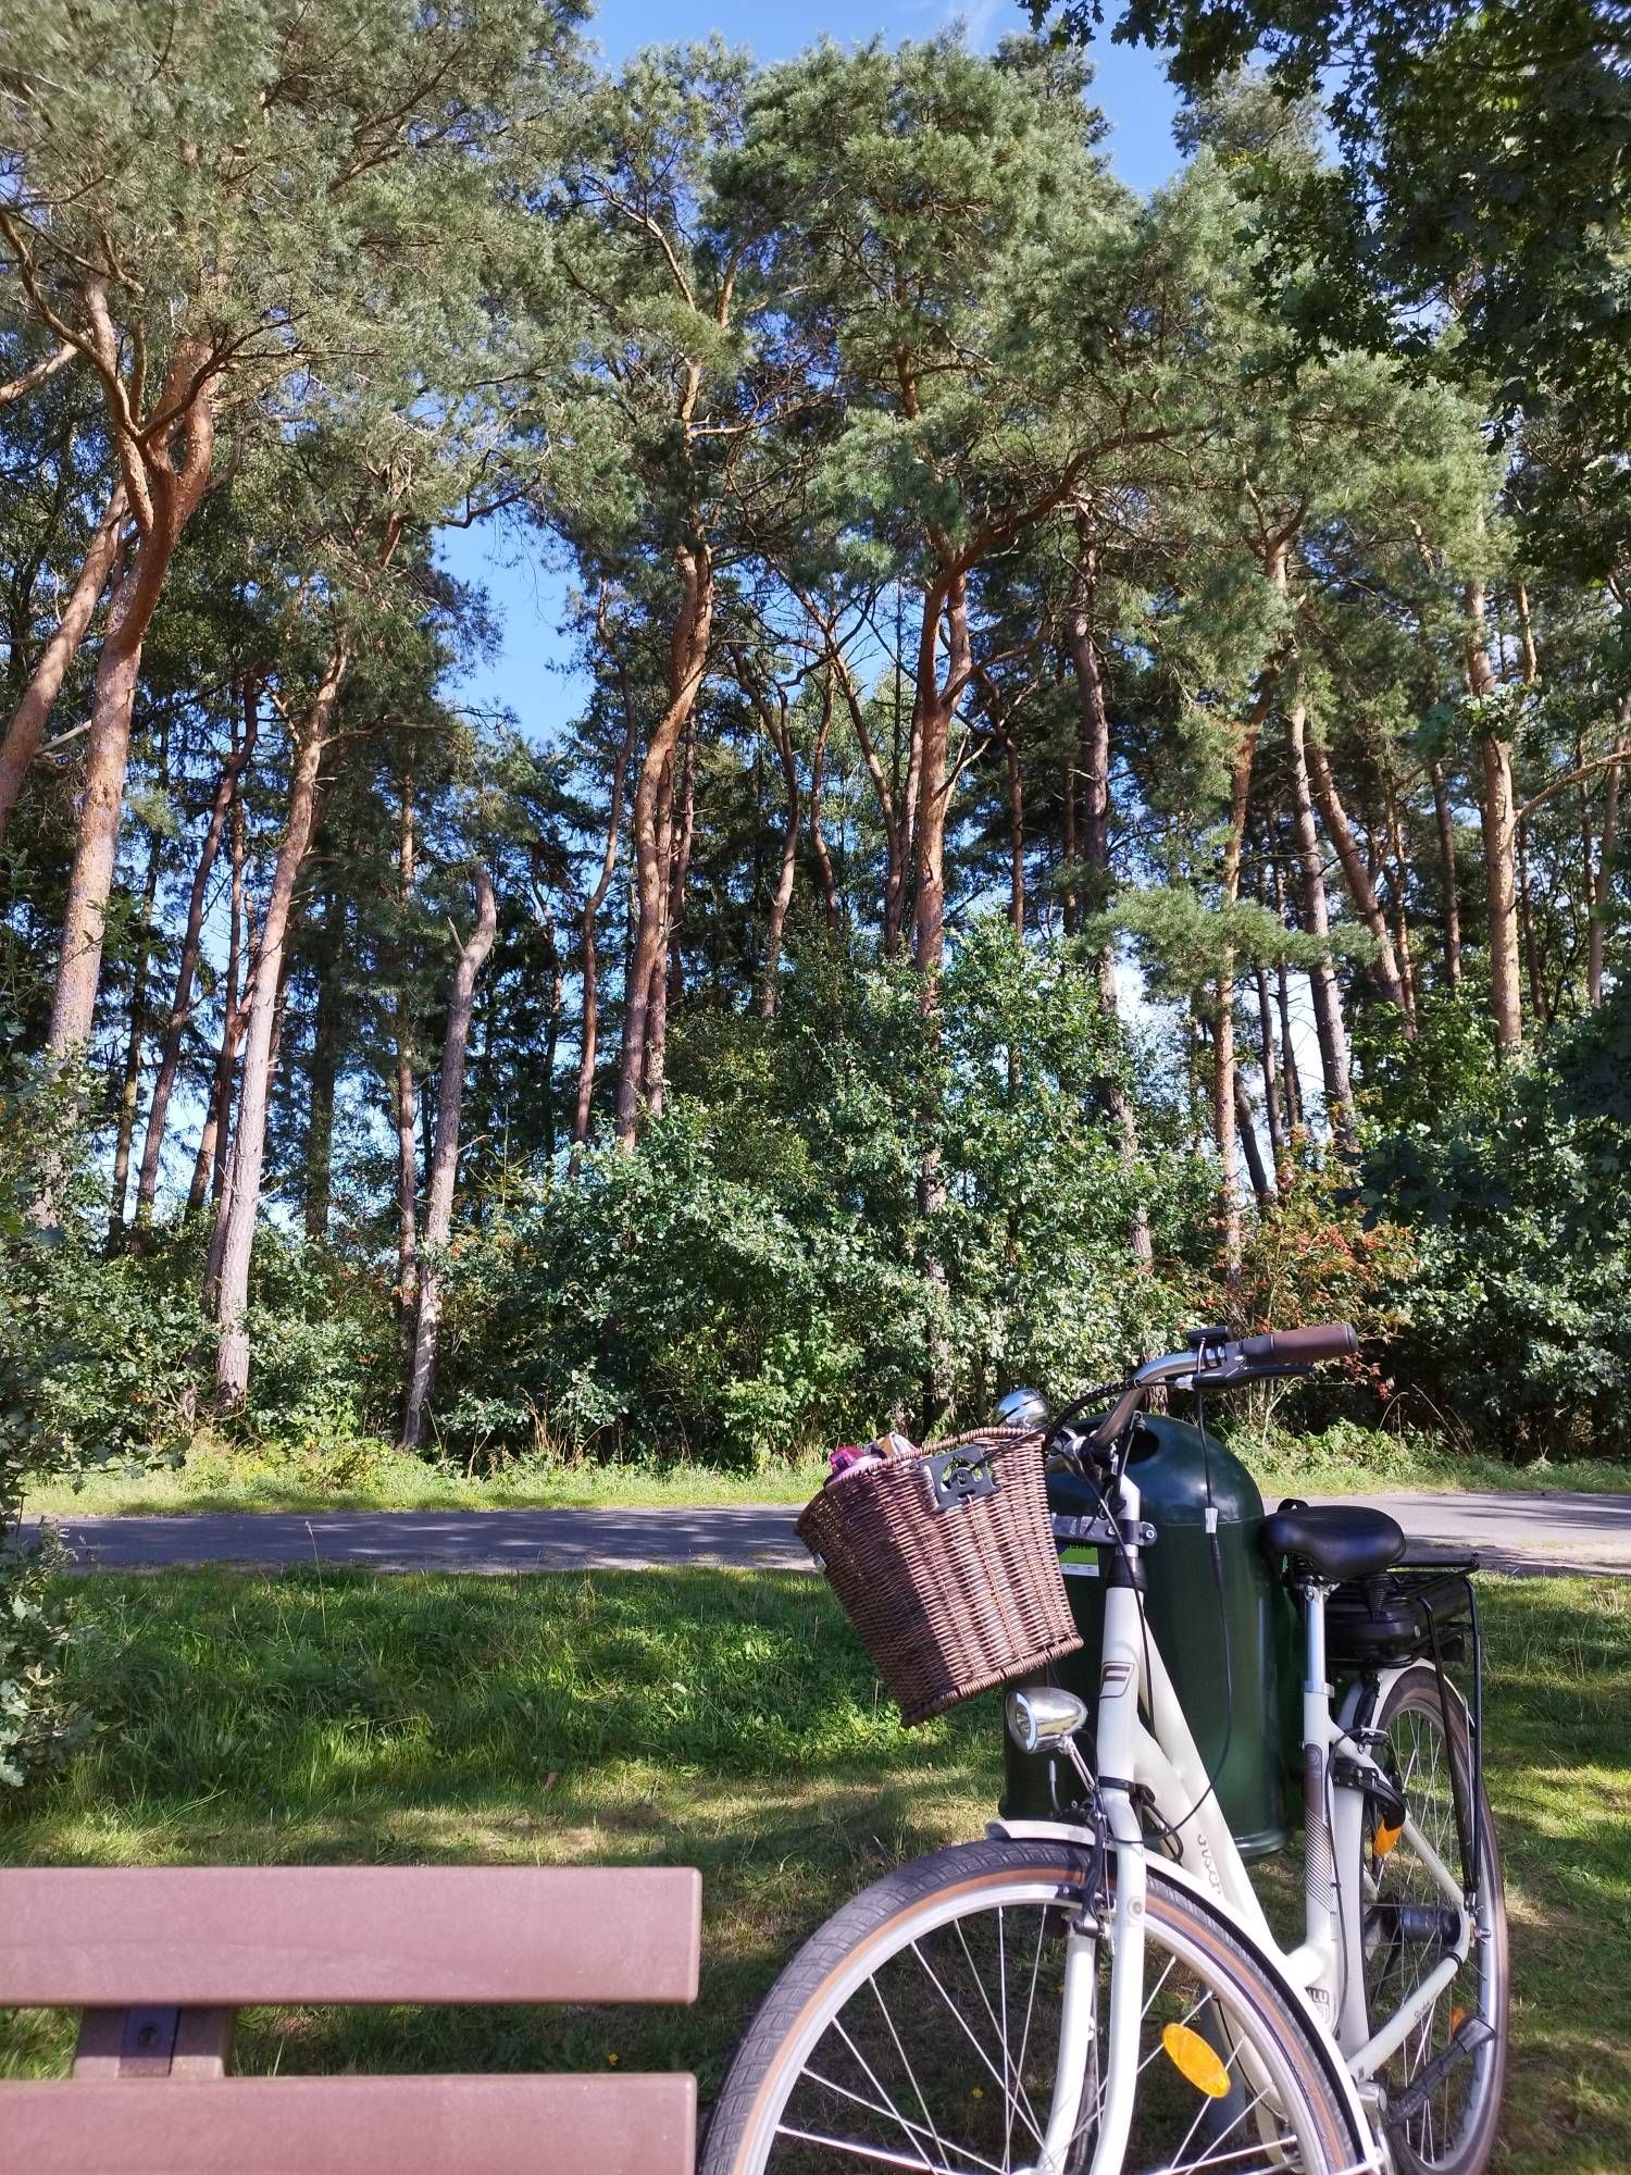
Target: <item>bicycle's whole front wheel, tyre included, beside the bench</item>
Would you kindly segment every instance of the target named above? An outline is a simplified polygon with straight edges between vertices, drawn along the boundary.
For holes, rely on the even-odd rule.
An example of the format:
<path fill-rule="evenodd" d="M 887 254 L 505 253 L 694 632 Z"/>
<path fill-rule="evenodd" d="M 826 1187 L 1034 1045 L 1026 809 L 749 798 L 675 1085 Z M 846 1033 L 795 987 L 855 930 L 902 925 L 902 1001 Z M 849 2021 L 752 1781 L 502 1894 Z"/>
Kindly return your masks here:
<path fill-rule="evenodd" d="M 1044 2166 L 1057 2092 L 1081 2101 L 1063 2168 L 1090 2168 L 1111 1955 L 1081 1903 L 1083 1855 L 1050 1840 L 935 1851 L 855 1897 L 748 2025 L 702 2175 L 1018 2175 Z M 1061 2077 L 1068 1957 L 1085 2014 Z M 1337 2175 L 1366 2158 L 1316 2031 L 1157 1866 L 1137 2062 L 1126 2175 Z"/>

